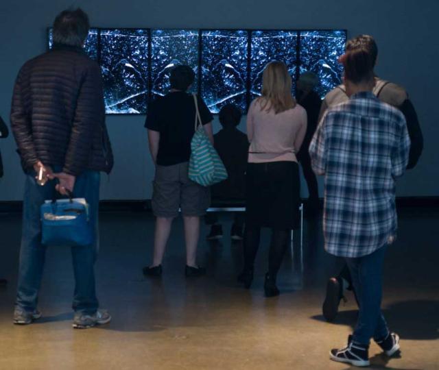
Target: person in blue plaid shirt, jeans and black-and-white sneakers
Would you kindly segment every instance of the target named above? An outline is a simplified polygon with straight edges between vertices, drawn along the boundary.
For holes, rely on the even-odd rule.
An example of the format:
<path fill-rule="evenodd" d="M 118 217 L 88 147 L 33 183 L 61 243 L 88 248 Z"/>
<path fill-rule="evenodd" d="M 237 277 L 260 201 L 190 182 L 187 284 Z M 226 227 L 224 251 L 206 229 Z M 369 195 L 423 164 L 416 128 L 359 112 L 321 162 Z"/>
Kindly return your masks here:
<path fill-rule="evenodd" d="M 353 336 L 331 359 L 367 366 L 370 338 L 388 356 L 399 350 L 381 314 L 381 270 L 396 236 L 395 180 L 407 166 L 410 138 L 403 114 L 372 93 L 368 50 L 359 45 L 340 62 L 350 99 L 327 110 L 309 153 L 313 170 L 325 177 L 325 249 L 346 258 L 360 306 Z"/>

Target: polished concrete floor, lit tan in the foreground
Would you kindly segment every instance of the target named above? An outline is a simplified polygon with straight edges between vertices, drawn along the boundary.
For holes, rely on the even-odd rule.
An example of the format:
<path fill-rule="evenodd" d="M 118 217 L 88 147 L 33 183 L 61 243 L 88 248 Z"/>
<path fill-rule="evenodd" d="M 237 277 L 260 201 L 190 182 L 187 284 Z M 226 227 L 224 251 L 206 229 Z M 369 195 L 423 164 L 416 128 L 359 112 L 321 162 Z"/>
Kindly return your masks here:
<path fill-rule="evenodd" d="M 385 262 L 383 310 L 401 336 L 401 356 L 370 347 L 372 369 L 439 369 L 439 210 L 407 208 Z M 230 215 L 223 214 L 230 229 Z M 278 277 L 281 296 L 263 297 L 270 234 L 263 234 L 250 291 L 235 283 L 242 245 L 207 243 L 199 259 L 206 277 L 187 280 L 182 223 L 176 221 L 161 280 L 147 280 L 153 219 L 147 213 L 101 216 L 97 286 L 109 325 L 71 328 L 73 273 L 66 248 L 47 254 L 40 310 L 33 325 L 12 325 L 21 223 L 0 214 L 0 369 L 350 369 L 329 360 L 355 324 L 353 297 L 335 323 L 321 316 L 327 277 L 337 265 L 322 250 L 320 221 L 305 224 L 305 245 L 289 251 Z M 297 235 L 296 235 L 297 236 Z"/>

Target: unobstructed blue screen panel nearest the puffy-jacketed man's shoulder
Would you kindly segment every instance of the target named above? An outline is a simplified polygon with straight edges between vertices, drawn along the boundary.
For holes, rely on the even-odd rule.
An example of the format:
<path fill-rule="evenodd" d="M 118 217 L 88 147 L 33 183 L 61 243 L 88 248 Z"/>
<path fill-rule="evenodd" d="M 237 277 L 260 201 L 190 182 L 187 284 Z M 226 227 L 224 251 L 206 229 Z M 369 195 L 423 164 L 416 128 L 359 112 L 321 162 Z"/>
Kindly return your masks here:
<path fill-rule="evenodd" d="M 144 114 L 148 95 L 147 29 L 101 29 L 101 69 L 109 114 Z"/>

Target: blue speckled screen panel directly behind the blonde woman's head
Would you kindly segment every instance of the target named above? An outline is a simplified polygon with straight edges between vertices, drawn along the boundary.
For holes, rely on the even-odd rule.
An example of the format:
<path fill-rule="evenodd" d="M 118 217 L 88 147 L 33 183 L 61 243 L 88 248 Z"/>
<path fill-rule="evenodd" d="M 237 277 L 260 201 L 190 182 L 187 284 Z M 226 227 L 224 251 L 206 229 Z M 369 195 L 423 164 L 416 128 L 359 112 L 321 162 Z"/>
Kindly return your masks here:
<path fill-rule="evenodd" d="M 293 88 L 297 68 L 297 41 L 295 31 L 252 31 L 252 45 L 250 57 L 250 97 L 261 95 L 262 74 L 265 66 L 273 60 L 281 60 L 287 65 L 289 75 L 292 76 Z"/>

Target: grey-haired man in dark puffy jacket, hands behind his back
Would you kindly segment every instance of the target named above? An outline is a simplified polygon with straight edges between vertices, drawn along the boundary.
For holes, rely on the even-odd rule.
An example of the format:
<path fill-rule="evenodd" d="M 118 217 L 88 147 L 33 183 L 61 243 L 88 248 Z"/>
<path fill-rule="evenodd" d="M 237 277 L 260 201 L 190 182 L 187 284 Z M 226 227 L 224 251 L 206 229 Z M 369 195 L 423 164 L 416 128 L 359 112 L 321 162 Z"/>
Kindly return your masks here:
<path fill-rule="evenodd" d="M 98 309 L 94 264 L 99 172 L 112 169 L 112 152 L 101 71 L 82 49 L 88 29 L 88 16 L 82 10 L 61 12 L 54 22 L 53 49 L 26 62 L 14 86 L 11 127 L 26 173 L 16 324 L 32 323 L 41 315 L 37 301 L 46 247 L 41 244 L 40 206 L 56 197 L 56 191 L 85 198 L 95 225 L 93 244 L 72 248 L 73 328 L 90 328 L 111 319 Z M 36 182 L 38 173 L 43 181 Z M 49 181 L 43 184 L 45 180 Z"/>

